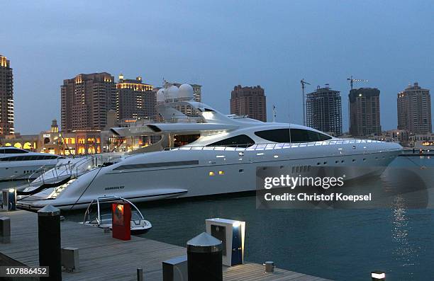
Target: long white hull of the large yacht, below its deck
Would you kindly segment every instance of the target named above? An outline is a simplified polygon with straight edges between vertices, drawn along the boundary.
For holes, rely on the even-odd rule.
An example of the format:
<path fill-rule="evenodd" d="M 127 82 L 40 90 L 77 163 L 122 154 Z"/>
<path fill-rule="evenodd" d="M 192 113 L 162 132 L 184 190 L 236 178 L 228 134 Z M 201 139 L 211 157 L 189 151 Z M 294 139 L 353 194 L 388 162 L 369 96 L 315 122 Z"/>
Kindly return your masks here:
<path fill-rule="evenodd" d="M 370 146 L 370 148 L 369 148 Z M 132 202 L 240 193 L 256 189 L 257 168 L 282 166 L 297 174 L 305 167 L 326 167 L 345 180 L 379 176 L 401 153 L 399 145 L 374 144 L 238 151 L 160 151 L 130 156 L 116 165 L 96 168 L 49 200 L 28 198 L 18 205 L 37 210 L 47 204 L 62 210 L 87 206 L 95 197 L 116 195 Z M 287 170 L 286 170 L 287 171 Z M 47 194 L 50 190 L 47 191 Z M 49 197 L 49 196 L 48 196 Z M 36 199 L 36 200 L 35 200 Z M 32 201 L 32 202 L 29 202 Z"/>

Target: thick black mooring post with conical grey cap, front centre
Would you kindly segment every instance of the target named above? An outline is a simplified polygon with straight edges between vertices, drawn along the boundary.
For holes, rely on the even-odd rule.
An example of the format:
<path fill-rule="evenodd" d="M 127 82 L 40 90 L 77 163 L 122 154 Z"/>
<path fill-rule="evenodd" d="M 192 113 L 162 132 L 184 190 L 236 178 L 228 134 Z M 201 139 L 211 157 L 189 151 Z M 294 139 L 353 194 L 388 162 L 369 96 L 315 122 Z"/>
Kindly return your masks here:
<path fill-rule="evenodd" d="M 203 232 L 187 242 L 189 281 L 221 281 L 221 241 Z"/>

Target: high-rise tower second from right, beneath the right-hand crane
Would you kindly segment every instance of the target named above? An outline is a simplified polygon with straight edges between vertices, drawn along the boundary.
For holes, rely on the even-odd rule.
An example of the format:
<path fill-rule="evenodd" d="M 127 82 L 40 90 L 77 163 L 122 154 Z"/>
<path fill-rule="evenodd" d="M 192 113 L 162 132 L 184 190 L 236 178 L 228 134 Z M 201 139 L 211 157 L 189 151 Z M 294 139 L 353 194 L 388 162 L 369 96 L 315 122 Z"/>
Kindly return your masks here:
<path fill-rule="evenodd" d="M 350 100 L 350 134 L 352 136 L 382 133 L 379 113 L 379 89 L 352 89 Z"/>

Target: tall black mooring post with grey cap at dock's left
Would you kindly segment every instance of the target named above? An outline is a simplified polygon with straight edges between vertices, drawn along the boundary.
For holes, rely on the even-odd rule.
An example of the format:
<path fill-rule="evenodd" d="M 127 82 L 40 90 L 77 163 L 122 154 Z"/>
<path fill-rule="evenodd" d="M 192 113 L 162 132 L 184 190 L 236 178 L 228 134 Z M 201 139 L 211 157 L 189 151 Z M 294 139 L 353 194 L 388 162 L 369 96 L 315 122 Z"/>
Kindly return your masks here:
<path fill-rule="evenodd" d="M 60 247 L 60 210 L 47 205 L 38 211 L 39 265 L 50 268 L 49 277 L 40 280 L 62 280 Z"/>

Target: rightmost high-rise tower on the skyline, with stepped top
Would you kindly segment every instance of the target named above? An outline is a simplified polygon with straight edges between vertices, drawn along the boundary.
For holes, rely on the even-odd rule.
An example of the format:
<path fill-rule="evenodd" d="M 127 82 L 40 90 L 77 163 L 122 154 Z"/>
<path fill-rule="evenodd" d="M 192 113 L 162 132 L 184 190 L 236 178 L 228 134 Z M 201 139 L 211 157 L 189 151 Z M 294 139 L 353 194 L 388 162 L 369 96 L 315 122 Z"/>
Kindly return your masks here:
<path fill-rule="evenodd" d="M 411 134 L 425 134 L 432 131 L 430 90 L 418 83 L 398 93 L 398 130 Z"/>

